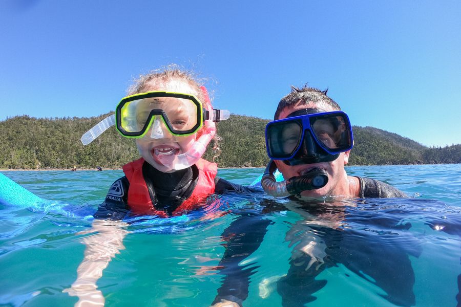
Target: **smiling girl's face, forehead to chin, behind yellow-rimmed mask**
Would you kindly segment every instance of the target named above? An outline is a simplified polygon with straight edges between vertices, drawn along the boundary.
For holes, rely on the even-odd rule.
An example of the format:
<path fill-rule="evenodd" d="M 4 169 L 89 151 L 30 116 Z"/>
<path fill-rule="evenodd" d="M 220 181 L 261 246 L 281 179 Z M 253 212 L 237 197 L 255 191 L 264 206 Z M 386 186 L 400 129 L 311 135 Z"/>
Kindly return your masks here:
<path fill-rule="evenodd" d="M 172 82 L 165 84 L 161 89 L 149 89 L 149 91 L 167 91 L 180 92 L 184 94 L 193 94 L 197 96 L 197 92 L 185 82 Z M 146 91 L 147 92 L 147 91 Z M 177 130 L 190 129 L 191 119 L 196 118 L 196 108 L 188 106 L 187 103 L 181 101 L 173 101 L 178 98 L 162 98 L 152 102 L 151 104 L 143 104 L 137 110 L 138 116 L 143 118 L 143 114 L 150 112 L 153 108 L 162 109 L 169 118 L 171 124 Z M 175 106 L 174 108 L 172 106 Z M 181 155 L 191 149 L 196 141 L 197 134 L 189 136 L 175 136 L 165 126 L 165 123 L 160 116 L 156 116 L 149 131 L 141 139 L 136 140 L 139 154 L 145 161 L 151 164 L 156 169 L 162 172 L 174 172 L 171 165 L 175 164 L 177 155 Z"/>

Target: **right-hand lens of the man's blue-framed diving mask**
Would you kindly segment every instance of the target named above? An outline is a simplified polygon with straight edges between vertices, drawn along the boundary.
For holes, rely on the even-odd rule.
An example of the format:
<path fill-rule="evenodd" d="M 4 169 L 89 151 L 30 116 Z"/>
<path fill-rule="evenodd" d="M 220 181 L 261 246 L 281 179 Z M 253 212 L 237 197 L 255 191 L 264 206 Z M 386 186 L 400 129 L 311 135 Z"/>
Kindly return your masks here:
<path fill-rule="evenodd" d="M 351 147 L 350 123 L 343 114 L 327 114 L 310 118 L 313 136 L 320 146 L 332 152 Z"/>

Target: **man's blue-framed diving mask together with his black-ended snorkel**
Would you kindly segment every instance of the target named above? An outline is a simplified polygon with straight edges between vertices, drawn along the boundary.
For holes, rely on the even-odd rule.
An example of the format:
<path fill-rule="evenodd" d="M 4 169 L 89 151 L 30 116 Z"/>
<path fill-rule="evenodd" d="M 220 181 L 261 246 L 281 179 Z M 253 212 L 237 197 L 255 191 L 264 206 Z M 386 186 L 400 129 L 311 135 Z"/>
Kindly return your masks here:
<path fill-rule="evenodd" d="M 352 146 L 352 127 L 347 115 L 341 111 L 323 112 L 306 108 L 289 114 L 287 118 L 269 122 L 266 126 L 266 148 L 271 161 L 261 185 L 266 193 L 277 197 L 320 189 L 328 183 L 325 170 L 315 168 L 302 176 L 276 182 L 273 160 L 281 160 L 287 165 L 331 162 Z"/>

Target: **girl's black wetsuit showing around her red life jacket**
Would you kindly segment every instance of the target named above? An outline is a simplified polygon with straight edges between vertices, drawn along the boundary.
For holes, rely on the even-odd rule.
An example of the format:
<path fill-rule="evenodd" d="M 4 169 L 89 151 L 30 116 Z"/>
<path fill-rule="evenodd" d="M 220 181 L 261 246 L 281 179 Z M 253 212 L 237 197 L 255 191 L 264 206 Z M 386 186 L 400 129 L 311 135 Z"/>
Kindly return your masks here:
<path fill-rule="evenodd" d="M 188 199 L 197 185 L 199 170 L 193 165 L 186 169 L 172 173 L 161 172 L 149 163 L 144 162 L 142 174 L 146 183 L 154 188 L 151 199 L 155 200 L 155 209 L 163 210 L 171 215 L 186 199 Z M 153 180 L 155 178 L 155 180 Z M 94 214 L 95 218 L 106 220 L 122 220 L 130 212 L 128 206 L 128 188 L 130 183 L 127 177 L 116 180 L 110 187 L 106 199 L 99 205 Z M 238 191 L 244 193 L 263 192 L 261 188 L 234 184 L 222 178 L 215 177 L 215 193 L 224 191 Z"/>

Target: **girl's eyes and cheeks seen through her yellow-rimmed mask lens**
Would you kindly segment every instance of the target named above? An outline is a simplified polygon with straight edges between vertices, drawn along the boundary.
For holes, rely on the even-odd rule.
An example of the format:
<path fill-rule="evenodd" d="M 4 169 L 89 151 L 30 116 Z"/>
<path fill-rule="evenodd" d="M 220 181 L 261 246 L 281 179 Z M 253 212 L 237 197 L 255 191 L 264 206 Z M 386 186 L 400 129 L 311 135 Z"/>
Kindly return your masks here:
<path fill-rule="evenodd" d="M 149 118 L 153 109 L 162 110 L 176 130 L 189 130 L 197 122 L 197 107 L 188 99 L 174 97 L 147 98 L 138 102 L 136 119 L 141 129 Z"/>

